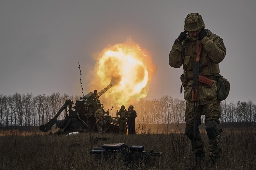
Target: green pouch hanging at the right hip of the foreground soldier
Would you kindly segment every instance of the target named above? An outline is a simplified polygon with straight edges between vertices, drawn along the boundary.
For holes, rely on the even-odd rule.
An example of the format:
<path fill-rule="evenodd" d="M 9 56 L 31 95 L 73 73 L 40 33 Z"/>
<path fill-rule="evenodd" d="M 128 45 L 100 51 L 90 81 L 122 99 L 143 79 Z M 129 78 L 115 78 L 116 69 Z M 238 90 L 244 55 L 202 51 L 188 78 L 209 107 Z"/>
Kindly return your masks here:
<path fill-rule="evenodd" d="M 221 74 L 214 75 L 217 76 L 217 99 L 219 101 L 225 100 L 229 94 L 230 83 Z"/>

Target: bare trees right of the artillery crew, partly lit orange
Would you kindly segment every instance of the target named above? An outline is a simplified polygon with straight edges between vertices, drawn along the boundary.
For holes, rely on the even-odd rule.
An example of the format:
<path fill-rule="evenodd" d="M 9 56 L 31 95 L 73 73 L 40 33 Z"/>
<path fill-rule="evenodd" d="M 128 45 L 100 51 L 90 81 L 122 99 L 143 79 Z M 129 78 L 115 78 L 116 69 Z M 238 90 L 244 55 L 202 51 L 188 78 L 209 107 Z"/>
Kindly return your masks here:
<path fill-rule="evenodd" d="M 141 113 L 140 122 L 185 123 L 186 101 L 162 96 L 160 99 L 140 101 L 137 110 Z M 204 122 L 204 116 L 202 116 L 202 122 Z M 256 122 L 256 104 L 251 100 L 236 103 L 222 101 L 220 122 Z"/>

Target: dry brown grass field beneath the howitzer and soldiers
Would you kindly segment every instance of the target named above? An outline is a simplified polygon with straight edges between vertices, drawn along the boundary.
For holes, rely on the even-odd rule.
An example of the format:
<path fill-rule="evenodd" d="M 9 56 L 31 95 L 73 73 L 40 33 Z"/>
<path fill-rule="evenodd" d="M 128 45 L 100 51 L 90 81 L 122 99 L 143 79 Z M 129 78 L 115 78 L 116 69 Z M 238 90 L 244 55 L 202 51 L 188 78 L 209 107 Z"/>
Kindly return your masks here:
<path fill-rule="evenodd" d="M 215 167 L 201 165 L 197 169 L 256 169 L 255 129 L 223 129 L 223 156 Z M 147 132 L 147 131 L 145 131 Z M 204 141 L 207 134 L 202 131 Z M 127 165 L 122 159 L 102 160 L 89 154 L 105 143 L 144 145 L 145 150 L 163 152 L 150 164 Z M 206 141 L 207 143 L 207 141 Z M 19 130 L 0 131 L 0 169 L 185 169 L 194 163 L 191 145 L 184 133 L 170 134 L 97 134 L 49 135 Z M 205 146 L 208 150 L 207 145 Z M 207 152 L 207 156 L 209 153 Z"/>

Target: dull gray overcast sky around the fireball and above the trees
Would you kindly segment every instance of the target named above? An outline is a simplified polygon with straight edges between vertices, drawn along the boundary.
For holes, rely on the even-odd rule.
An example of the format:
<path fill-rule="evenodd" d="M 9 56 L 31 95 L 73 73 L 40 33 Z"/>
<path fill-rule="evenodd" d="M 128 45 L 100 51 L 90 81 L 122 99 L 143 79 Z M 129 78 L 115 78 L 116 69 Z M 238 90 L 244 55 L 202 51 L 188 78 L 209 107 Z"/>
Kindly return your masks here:
<path fill-rule="evenodd" d="M 226 101 L 256 103 L 255 7 L 255 0 L 0 0 L 0 94 L 82 96 L 78 62 L 85 93 L 93 91 L 86 86 L 93 54 L 131 37 L 157 66 L 146 99 L 183 99 L 183 70 L 171 68 L 168 56 L 187 14 L 198 12 L 227 48 L 220 63 L 230 81 Z"/>

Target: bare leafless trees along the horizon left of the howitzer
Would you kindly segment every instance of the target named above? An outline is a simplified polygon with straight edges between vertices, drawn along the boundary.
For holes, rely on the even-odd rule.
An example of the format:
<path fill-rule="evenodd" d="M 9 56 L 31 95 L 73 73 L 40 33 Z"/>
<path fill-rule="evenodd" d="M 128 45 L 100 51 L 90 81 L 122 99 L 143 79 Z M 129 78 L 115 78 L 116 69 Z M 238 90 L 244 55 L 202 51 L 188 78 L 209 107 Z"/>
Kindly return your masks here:
<path fill-rule="evenodd" d="M 75 101 L 79 96 L 53 93 L 50 96 L 32 94 L 0 95 L 1 126 L 38 126 L 51 120 L 67 99 Z M 59 118 L 63 119 L 61 114 Z"/>

